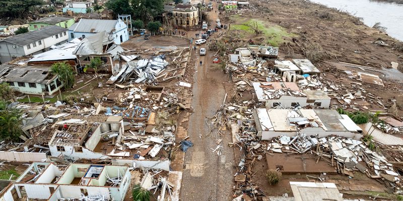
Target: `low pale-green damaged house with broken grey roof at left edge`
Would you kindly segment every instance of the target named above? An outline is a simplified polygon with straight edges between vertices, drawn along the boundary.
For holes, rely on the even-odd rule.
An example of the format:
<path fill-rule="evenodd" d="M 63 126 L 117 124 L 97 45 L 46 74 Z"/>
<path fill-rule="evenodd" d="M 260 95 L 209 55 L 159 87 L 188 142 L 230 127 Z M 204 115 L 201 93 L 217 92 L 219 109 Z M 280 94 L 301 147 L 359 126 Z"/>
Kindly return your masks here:
<path fill-rule="evenodd" d="M 58 75 L 50 73 L 50 67 L 42 66 L 0 65 L 0 82 L 2 81 L 9 83 L 16 91 L 36 95 L 52 96 L 63 87 Z"/>

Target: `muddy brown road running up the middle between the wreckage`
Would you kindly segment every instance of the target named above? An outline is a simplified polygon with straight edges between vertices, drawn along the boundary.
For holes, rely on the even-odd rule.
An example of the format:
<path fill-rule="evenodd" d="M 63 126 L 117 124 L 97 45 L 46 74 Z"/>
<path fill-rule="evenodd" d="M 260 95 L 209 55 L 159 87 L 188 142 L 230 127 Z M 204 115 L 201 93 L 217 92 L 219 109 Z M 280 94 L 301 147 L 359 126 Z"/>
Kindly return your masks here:
<path fill-rule="evenodd" d="M 211 19 L 217 19 L 216 8 L 214 2 Z M 216 35 L 212 35 L 212 38 Z M 192 99 L 194 112 L 189 117 L 188 127 L 188 136 L 194 146 L 185 153 L 180 200 L 229 200 L 232 197 L 234 151 L 228 147 L 232 138 L 229 132 L 223 136 L 210 132 L 206 123 L 207 117 L 214 116 L 223 103 L 228 77 L 221 70 L 214 69 L 214 52 L 206 46 L 203 44 L 196 49 Z M 199 48 L 207 49 L 205 56 L 198 54 Z M 219 139 L 222 139 L 223 146 L 221 156 L 211 150 L 216 149 Z"/>

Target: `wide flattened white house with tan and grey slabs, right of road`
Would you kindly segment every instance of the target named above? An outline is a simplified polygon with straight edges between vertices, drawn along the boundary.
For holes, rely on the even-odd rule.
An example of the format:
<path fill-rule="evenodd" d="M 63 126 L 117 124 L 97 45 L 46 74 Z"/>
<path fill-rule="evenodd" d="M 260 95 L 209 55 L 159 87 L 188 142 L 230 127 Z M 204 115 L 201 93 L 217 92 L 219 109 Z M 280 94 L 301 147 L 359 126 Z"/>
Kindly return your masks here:
<path fill-rule="evenodd" d="M 306 134 L 318 138 L 338 135 L 359 140 L 362 130 L 347 115 L 324 109 L 263 109 L 253 112 L 257 134 L 261 140 L 281 135 Z"/>

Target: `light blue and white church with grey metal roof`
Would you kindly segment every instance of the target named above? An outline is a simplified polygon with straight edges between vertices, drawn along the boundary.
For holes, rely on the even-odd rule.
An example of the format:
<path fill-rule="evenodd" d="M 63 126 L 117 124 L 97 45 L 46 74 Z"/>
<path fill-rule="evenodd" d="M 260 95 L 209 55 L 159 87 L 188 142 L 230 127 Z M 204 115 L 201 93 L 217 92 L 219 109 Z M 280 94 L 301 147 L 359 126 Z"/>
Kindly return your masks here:
<path fill-rule="evenodd" d="M 81 19 L 69 29 L 69 41 L 74 38 L 85 38 L 96 33 L 106 32 L 115 44 L 123 43 L 129 39 L 127 25 L 118 20 Z"/>

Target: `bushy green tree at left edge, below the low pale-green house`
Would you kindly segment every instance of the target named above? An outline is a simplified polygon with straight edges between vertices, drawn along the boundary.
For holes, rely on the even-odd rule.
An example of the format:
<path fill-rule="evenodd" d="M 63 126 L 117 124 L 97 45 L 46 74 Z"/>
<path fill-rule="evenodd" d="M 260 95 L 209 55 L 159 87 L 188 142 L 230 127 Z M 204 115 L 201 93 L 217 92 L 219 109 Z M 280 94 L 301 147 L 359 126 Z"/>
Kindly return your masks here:
<path fill-rule="evenodd" d="M 0 105 L 6 106 L 4 100 L 0 100 Z M 7 110 L 3 108 L 0 111 L 0 140 L 12 140 L 14 142 L 20 141 L 20 136 L 23 133 L 21 130 L 22 119 L 21 111 L 17 109 Z"/>

